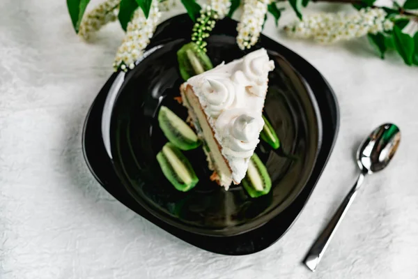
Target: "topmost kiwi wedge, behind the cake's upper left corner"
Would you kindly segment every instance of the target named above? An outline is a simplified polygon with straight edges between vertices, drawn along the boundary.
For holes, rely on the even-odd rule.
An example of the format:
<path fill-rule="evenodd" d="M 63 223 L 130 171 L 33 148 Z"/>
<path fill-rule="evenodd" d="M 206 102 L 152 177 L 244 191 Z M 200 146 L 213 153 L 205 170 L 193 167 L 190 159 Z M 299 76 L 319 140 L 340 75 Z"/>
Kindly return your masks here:
<path fill-rule="evenodd" d="M 178 50 L 177 60 L 180 75 L 183 77 L 183 80 L 189 80 L 190 77 L 213 68 L 208 55 L 202 50 L 199 50 L 199 47 L 193 42 L 183 45 Z"/>

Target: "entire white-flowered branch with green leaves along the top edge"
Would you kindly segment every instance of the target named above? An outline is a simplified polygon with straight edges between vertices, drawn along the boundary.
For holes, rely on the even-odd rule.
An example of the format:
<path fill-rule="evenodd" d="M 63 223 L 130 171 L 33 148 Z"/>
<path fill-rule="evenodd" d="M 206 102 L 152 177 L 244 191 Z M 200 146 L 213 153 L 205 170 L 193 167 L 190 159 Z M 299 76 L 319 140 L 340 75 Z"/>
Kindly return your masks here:
<path fill-rule="evenodd" d="M 376 0 L 207 0 L 208 6 L 201 8 L 196 0 L 104 0 L 84 15 L 90 0 L 67 0 L 68 11 L 76 33 L 88 40 L 95 31 L 109 22 L 118 20 L 126 31 L 119 47 L 114 68 L 128 70 L 141 58 L 160 20 L 160 10 L 167 11 L 177 2 L 183 3 L 187 14 L 195 22 L 191 30 L 194 47 L 206 51 L 206 38 L 217 20 L 232 17 L 240 3 L 242 16 L 238 22 L 238 47 L 242 50 L 256 45 L 263 30 L 267 13 L 279 22 L 283 8 L 277 3 L 288 1 L 299 18 L 285 27 L 286 33 L 294 38 L 313 38 L 319 43 L 335 43 L 368 36 L 380 56 L 396 50 L 406 64 L 418 66 L 418 1 L 406 0 L 401 6 L 395 0 L 392 7 L 378 7 Z M 302 8 L 309 1 L 347 3 L 358 11 L 351 14 L 320 13 L 302 16 Z M 415 32 L 415 34 L 413 34 Z M 410 35 L 412 34 L 412 36 Z"/>

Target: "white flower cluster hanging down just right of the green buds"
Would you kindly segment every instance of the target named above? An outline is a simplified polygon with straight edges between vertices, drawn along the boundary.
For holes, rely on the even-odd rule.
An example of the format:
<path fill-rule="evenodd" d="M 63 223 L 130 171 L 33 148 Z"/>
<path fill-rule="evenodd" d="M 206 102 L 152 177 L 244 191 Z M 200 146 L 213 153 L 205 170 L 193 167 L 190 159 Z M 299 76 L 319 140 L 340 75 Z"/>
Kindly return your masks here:
<path fill-rule="evenodd" d="M 244 11 L 237 27 L 237 43 L 240 49 L 245 50 L 257 43 L 269 3 L 270 0 L 245 0 Z"/>

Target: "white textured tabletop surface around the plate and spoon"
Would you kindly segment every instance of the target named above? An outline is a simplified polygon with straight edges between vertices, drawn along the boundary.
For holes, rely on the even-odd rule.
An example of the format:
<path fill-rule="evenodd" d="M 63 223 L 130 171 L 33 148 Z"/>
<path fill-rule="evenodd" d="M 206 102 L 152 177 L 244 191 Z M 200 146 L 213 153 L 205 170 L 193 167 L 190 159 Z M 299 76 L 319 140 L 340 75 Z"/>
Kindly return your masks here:
<path fill-rule="evenodd" d="M 88 172 L 82 123 L 111 74 L 122 38 L 117 24 L 85 44 L 64 0 L 2 0 L 0 8 L 1 279 L 418 278 L 418 68 L 395 56 L 381 61 L 366 40 L 334 47 L 290 40 L 269 20 L 266 33 L 329 80 L 341 129 L 291 230 L 262 252 L 226 257 L 136 216 Z M 353 151 L 384 121 L 403 133 L 394 162 L 367 177 L 311 273 L 300 262 L 355 179 Z"/>

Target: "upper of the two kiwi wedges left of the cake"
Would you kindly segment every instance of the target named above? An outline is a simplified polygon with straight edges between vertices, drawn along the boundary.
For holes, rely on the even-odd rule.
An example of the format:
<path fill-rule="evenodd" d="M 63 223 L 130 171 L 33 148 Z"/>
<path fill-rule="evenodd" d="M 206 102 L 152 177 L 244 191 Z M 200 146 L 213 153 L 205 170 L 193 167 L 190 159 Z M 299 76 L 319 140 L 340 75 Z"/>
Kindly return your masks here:
<path fill-rule="evenodd" d="M 158 112 L 158 123 L 167 139 L 182 150 L 195 149 L 201 144 L 196 133 L 185 121 L 164 105 Z"/>

